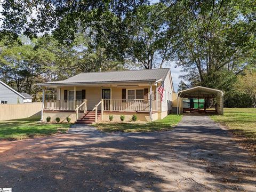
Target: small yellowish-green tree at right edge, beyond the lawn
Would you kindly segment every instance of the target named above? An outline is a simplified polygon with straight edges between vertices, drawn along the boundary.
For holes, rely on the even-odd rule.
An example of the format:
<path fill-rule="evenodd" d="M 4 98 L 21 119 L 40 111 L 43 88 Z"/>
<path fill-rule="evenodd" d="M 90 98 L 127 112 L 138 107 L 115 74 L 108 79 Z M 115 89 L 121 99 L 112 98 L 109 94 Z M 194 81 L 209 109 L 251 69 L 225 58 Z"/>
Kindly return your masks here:
<path fill-rule="evenodd" d="M 253 107 L 256 108 L 256 70 L 246 70 L 238 77 L 237 89 L 250 96 Z"/>

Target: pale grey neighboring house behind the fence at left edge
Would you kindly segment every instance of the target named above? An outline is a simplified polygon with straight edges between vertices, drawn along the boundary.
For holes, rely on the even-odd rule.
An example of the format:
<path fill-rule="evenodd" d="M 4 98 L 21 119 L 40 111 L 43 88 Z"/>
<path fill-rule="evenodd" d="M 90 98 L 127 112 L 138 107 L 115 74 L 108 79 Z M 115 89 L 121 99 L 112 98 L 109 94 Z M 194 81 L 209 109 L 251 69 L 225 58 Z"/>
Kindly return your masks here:
<path fill-rule="evenodd" d="M 33 97 L 27 93 L 19 93 L 0 81 L 0 104 L 32 102 Z"/>

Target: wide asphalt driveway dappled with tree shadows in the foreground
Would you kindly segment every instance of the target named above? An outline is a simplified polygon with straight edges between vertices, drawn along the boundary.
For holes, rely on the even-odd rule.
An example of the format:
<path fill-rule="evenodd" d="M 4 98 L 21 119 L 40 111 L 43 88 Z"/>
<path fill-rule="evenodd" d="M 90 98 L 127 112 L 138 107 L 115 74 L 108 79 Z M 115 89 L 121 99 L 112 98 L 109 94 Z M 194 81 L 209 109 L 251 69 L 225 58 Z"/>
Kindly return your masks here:
<path fill-rule="evenodd" d="M 172 131 L 69 134 L 0 143 L 13 191 L 256 191 L 255 162 L 207 116 Z"/>

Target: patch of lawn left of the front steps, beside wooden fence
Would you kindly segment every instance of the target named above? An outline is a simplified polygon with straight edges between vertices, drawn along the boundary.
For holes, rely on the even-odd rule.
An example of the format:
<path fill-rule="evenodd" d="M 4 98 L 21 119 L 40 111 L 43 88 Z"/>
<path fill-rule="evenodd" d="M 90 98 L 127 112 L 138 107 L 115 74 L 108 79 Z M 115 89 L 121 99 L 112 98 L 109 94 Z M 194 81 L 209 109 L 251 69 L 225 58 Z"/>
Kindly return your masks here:
<path fill-rule="evenodd" d="M 69 124 L 36 123 L 40 117 L 0 121 L 0 140 L 20 140 L 66 132 Z"/>

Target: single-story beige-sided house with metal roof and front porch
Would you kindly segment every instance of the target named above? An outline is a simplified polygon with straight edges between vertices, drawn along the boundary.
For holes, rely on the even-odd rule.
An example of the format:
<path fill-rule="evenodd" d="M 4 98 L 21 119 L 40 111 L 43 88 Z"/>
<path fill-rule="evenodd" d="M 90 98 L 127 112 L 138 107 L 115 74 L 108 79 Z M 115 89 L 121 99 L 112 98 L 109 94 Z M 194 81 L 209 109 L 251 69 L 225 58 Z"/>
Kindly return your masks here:
<path fill-rule="evenodd" d="M 43 90 L 42 121 L 67 117 L 71 122 L 114 121 L 136 114 L 140 121 L 162 119 L 172 111 L 170 68 L 81 73 L 64 81 L 38 84 Z M 56 89 L 56 100 L 45 100 L 45 89 Z M 158 89 L 161 89 L 158 90 Z"/>

